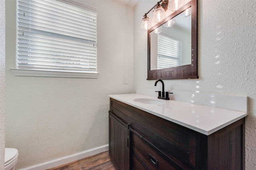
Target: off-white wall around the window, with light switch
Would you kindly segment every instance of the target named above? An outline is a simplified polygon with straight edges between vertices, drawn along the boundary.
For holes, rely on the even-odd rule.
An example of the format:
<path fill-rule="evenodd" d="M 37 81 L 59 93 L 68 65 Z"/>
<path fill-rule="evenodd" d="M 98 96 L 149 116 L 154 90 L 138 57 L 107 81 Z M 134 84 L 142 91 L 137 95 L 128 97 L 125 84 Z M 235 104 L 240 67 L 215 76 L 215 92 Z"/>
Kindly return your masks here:
<path fill-rule="evenodd" d="M 107 95 L 134 92 L 133 8 L 81 2 L 98 9 L 97 79 L 14 76 L 16 1 L 6 0 L 6 147 L 18 149 L 17 168 L 108 144 Z"/>

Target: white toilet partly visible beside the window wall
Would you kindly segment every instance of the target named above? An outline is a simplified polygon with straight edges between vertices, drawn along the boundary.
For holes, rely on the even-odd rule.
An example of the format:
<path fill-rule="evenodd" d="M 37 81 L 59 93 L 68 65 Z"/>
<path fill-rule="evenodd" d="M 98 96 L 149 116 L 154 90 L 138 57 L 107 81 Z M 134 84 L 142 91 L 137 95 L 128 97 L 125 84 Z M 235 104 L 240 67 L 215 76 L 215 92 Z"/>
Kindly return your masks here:
<path fill-rule="evenodd" d="M 18 150 L 14 148 L 6 148 L 4 154 L 4 170 L 14 170 L 18 162 Z"/>

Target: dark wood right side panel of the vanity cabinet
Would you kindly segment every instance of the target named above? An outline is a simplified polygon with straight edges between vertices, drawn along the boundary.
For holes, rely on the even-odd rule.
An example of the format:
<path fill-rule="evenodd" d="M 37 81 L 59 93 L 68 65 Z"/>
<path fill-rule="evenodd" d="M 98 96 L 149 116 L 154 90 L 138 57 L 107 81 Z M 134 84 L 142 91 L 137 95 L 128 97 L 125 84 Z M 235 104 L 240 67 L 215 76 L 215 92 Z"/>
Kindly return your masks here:
<path fill-rule="evenodd" d="M 244 118 L 207 136 L 207 143 L 208 170 L 245 169 Z"/>

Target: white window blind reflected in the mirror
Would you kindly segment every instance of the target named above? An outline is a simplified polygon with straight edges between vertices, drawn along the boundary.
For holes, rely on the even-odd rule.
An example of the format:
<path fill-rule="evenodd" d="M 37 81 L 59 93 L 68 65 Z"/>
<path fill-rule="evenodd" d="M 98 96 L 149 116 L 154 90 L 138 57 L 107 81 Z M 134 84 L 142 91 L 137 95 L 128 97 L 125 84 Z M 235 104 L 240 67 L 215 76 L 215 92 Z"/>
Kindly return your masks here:
<path fill-rule="evenodd" d="M 182 41 L 160 33 L 157 42 L 157 69 L 181 66 Z"/>

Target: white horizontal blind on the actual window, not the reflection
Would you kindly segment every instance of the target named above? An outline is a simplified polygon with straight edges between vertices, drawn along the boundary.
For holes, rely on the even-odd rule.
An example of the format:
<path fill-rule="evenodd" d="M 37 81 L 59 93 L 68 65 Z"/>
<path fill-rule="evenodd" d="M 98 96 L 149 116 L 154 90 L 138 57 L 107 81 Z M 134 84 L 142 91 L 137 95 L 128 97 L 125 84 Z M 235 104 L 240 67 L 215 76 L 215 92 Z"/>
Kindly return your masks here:
<path fill-rule="evenodd" d="M 97 72 L 96 12 L 56 0 L 18 0 L 17 67 Z"/>

